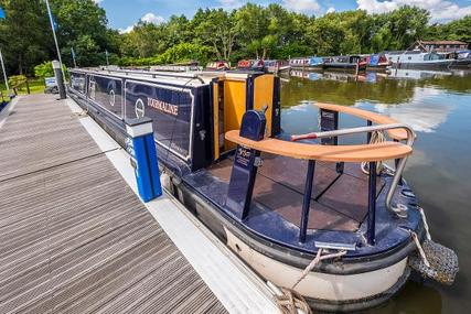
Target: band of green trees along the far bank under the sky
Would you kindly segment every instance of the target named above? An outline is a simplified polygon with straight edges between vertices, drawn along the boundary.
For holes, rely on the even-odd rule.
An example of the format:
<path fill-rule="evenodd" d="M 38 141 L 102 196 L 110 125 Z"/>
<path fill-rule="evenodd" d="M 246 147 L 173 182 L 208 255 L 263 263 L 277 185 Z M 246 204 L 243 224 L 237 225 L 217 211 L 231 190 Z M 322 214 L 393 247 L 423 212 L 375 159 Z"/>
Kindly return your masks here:
<path fill-rule="evenodd" d="M 128 33 L 108 29 L 106 12 L 94 0 L 50 0 L 58 24 L 57 40 L 66 65 L 71 48 L 81 67 L 109 62 L 153 65 L 208 59 L 289 58 L 405 50 L 416 40 L 471 43 L 471 17 L 429 24 L 429 12 L 404 6 L 383 14 L 352 10 L 322 17 L 288 11 L 280 4 L 200 9 L 192 19 L 172 15 L 159 24 L 139 21 Z M 43 0 L 0 0 L 0 45 L 7 72 L 52 75 L 46 61 L 56 58 Z M 44 63 L 46 62 L 46 63 Z M 41 64 L 43 63 L 43 64 Z M 34 67 L 34 65 L 39 66 Z"/>

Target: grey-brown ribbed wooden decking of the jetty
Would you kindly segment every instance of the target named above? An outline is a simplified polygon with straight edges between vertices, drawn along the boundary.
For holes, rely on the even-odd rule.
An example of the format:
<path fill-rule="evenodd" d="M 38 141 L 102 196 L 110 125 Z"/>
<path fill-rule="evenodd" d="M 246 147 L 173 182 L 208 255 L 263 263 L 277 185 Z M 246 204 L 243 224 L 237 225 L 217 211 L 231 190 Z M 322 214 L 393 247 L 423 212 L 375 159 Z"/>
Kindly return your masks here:
<path fill-rule="evenodd" d="M 225 313 L 53 96 L 0 129 L 0 313 Z"/>

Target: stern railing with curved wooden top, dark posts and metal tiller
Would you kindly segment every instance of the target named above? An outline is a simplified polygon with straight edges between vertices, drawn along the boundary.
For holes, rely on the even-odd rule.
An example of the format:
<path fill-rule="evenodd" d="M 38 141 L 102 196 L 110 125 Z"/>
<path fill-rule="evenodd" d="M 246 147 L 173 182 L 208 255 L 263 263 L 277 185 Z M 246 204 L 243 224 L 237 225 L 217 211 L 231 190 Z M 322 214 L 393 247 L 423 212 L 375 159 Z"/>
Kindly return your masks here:
<path fill-rule="evenodd" d="M 341 107 L 341 108 L 338 108 Z M 330 105 L 329 109 L 334 108 L 342 110 L 343 106 Z M 360 109 L 356 109 L 360 110 Z M 367 119 L 378 120 L 383 117 L 376 113 L 368 111 L 360 110 L 355 113 L 362 113 Z M 394 213 L 399 217 L 407 216 L 407 207 L 393 206 L 392 201 L 396 192 L 397 185 L 402 182 L 402 174 L 404 172 L 405 165 L 407 163 L 408 155 L 413 152 L 413 145 L 415 140 L 414 130 L 405 124 L 394 121 L 393 123 L 383 123 L 373 126 L 372 120 L 367 120 L 366 127 L 360 128 L 350 128 L 341 130 L 330 130 L 313 132 L 303 136 L 295 136 L 293 140 L 300 139 L 324 139 L 324 138 L 339 138 L 342 136 L 355 134 L 355 133 L 367 133 L 367 143 L 366 144 L 353 144 L 353 145 L 322 145 L 313 143 L 303 143 L 296 141 L 286 141 L 274 138 L 266 138 L 260 141 L 254 141 L 239 136 L 239 130 L 233 130 L 226 133 L 226 139 L 228 141 L 235 142 L 246 149 L 254 150 L 255 152 L 266 152 L 271 154 L 278 154 L 295 159 L 308 160 L 308 172 L 306 178 L 303 203 L 302 203 L 302 213 L 300 221 L 300 231 L 299 239 L 301 242 L 306 241 L 308 220 L 309 220 L 309 210 L 311 203 L 311 193 L 313 187 L 313 176 L 315 169 L 315 161 L 327 161 L 327 162 L 367 162 L 370 164 L 370 170 L 376 170 L 377 162 L 396 160 L 396 171 L 394 173 L 389 190 L 387 191 L 385 206 L 388 210 Z M 379 119 L 384 120 L 384 119 Z M 394 130 L 400 130 L 400 132 L 393 132 Z M 370 143 L 371 134 L 373 132 L 393 132 L 397 139 L 394 141 L 385 141 L 378 143 Z M 402 143 L 400 140 L 405 140 L 405 143 Z M 366 230 L 366 240 L 370 245 L 375 243 L 375 212 L 376 212 L 376 171 L 368 172 L 368 215 L 367 215 L 367 230 Z M 246 215 L 246 214 L 245 214 Z M 242 216 L 242 218 L 245 217 Z"/>

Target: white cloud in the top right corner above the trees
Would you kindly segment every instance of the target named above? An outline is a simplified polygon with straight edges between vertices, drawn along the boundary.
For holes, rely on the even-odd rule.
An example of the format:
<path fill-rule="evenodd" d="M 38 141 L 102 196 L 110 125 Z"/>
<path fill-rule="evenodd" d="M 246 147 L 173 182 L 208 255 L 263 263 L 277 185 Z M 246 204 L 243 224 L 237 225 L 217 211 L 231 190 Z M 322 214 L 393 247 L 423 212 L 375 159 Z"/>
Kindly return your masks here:
<path fill-rule="evenodd" d="M 356 0 L 358 9 L 370 13 L 384 13 L 396 10 L 403 6 L 416 6 L 430 11 L 432 22 L 443 22 L 461 19 L 471 14 L 471 6 L 460 7 L 446 0 Z"/>

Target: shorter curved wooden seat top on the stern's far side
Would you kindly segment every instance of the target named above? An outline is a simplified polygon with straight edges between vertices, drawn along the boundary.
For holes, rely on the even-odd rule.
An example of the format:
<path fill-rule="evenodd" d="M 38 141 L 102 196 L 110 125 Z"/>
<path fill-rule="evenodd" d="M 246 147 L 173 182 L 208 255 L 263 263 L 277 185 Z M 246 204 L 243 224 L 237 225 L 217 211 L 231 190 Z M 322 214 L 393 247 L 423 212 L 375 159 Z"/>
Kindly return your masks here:
<path fill-rule="evenodd" d="M 347 107 L 347 106 L 339 106 L 339 105 L 323 104 L 323 102 L 317 102 L 315 106 L 318 106 L 321 109 L 327 109 L 327 110 L 332 110 L 332 111 L 352 115 L 352 116 L 355 116 L 355 117 L 358 117 L 358 118 L 362 118 L 365 120 L 370 120 L 376 124 L 397 123 L 396 120 L 394 120 L 389 117 L 382 116 L 382 115 L 378 115 L 378 113 L 375 113 L 372 111 L 367 111 L 367 110 Z M 398 141 L 407 140 L 407 131 L 404 129 L 387 130 L 387 133 L 392 139 L 395 139 Z"/>

